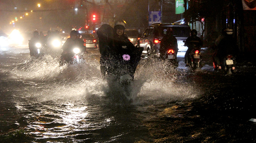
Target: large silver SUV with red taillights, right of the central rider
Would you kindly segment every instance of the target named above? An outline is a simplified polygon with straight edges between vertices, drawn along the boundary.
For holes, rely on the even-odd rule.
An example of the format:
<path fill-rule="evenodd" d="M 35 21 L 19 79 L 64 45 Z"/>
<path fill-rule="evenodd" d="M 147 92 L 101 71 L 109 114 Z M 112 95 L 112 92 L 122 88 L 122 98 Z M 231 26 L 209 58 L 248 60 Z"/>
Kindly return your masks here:
<path fill-rule="evenodd" d="M 178 42 L 177 57 L 184 57 L 187 47 L 184 46 L 183 40 L 186 40 L 190 35 L 190 28 L 188 25 L 180 24 L 152 24 L 142 34 L 142 37 L 135 46 L 143 47 L 142 56 L 147 58 L 148 56 L 159 57 L 160 42 L 163 36 L 166 34 L 166 29 L 171 27 L 173 29 L 173 35 Z"/>

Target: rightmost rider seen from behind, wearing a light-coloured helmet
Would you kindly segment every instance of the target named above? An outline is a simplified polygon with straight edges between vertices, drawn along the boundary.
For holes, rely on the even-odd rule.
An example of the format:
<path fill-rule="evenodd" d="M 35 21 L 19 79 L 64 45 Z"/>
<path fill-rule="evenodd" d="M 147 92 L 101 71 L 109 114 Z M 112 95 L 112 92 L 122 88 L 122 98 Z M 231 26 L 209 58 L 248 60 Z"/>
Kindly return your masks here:
<path fill-rule="evenodd" d="M 227 55 L 233 55 L 234 57 L 238 54 L 238 46 L 237 46 L 237 40 L 233 37 L 233 29 L 227 28 L 224 30 L 225 35 L 223 39 L 220 40 L 220 43 L 218 44 L 218 50 L 216 53 L 216 62 L 218 69 L 221 69 L 221 65 L 223 65 L 222 59 L 225 58 Z M 235 66 L 235 62 L 233 64 Z M 234 70 L 235 67 L 232 67 Z"/>

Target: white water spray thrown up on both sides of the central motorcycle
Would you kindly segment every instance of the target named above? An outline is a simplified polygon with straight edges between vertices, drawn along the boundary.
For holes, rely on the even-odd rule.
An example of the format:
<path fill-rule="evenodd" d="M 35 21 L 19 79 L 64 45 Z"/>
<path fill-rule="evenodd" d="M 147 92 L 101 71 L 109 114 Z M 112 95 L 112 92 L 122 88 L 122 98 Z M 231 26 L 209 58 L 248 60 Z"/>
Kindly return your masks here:
<path fill-rule="evenodd" d="M 5 80 L 30 82 L 31 86 L 26 86 L 22 96 L 39 102 L 57 99 L 86 101 L 88 96 L 125 94 L 120 85 L 113 84 L 114 88 L 111 88 L 101 78 L 99 62 L 90 57 L 81 64 L 59 66 L 59 58 L 45 55 L 41 59 L 25 61 L 12 71 L 0 71 L 0 75 L 4 75 L 1 78 Z M 184 70 L 170 68 L 163 61 L 140 61 L 130 87 L 133 104 L 158 104 L 196 98 L 200 91 L 186 81 L 185 75 Z"/>

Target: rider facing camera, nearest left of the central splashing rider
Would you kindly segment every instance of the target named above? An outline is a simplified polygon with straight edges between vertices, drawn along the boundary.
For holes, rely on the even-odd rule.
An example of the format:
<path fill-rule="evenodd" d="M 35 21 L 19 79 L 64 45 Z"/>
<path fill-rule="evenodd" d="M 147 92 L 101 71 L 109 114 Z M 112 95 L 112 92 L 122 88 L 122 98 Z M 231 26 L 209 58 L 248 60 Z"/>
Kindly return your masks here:
<path fill-rule="evenodd" d="M 85 52 L 86 47 L 83 45 L 83 43 L 83 40 L 80 39 L 79 32 L 76 30 L 72 30 L 70 32 L 70 37 L 61 47 L 61 49 L 63 50 L 63 52 L 61 53 L 61 60 L 71 61 L 71 58 L 73 57 L 74 47 L 79 47 L 82 52 Z"/>

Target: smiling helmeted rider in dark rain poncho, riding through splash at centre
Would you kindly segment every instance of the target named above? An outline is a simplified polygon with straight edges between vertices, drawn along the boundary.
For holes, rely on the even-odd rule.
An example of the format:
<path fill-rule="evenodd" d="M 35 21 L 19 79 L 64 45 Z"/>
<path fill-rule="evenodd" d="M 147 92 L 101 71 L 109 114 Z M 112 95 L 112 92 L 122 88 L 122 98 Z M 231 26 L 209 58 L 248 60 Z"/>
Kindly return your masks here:
<path fill-rule="evenodd" d="M 111 31 L 112 30 L 112 31 Z M 135 48 L 124 34 L 125 24 L 117 22 L 114 29 L 102 25 L 97 31 L 101 53 L 101 73 L 119 75 L 127 72 L 134 76 L 138 62 L 142 54 L 142 48 Z M 105 71 L 106 70 L 106 71 Z"/>

